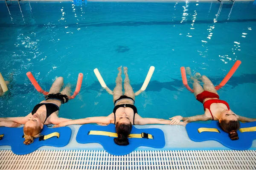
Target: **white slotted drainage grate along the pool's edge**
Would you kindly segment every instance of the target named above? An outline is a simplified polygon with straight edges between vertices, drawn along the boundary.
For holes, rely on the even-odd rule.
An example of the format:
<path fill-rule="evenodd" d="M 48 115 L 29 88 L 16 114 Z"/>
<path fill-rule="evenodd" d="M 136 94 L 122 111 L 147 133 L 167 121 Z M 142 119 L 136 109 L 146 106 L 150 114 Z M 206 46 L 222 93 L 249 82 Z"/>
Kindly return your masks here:
<path fill-rule="evenodd" d="M 255 150 L 136 150 L 113 156 L 104 150 L 36 150 L 15 155 L 0 150 L 0 170 L 248 170 Z"/>

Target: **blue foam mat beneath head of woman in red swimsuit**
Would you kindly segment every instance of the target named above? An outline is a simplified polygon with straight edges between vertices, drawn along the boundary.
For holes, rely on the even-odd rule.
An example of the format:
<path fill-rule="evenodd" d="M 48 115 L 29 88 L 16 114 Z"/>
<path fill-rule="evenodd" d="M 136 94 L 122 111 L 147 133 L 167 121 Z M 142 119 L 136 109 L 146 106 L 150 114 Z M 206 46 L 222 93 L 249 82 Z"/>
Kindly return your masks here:
<path fill-rule="evenodd" d="M 256 122 L 249 122 L 249 123 L 240 123 L 240 128 L 244 127 L 254 127 L 256 126 Z M 217 132 L 198 132 L 200 127 L 207 127 L 207 128 L 216 128 L 219 130 L 220 133 Z M 189 138 L 195 142 L 203 142 L 214 140 L 225 147 L 228 147 L 233 150 L 247 150 L 249 149 L 252 144 L 253 140 L 256 139 L 256 131 L 255 132 L 243 132 L 241 133 L 237 130 L 238 133 L 238 140 L 231 140 L 229 134 L 224 132 L 221 127 L 219 126 L 218 121 L 212 121 L 210 124 L 203 124 L 203 123 L 188 123 L 186 125 L 186 131 L 189 135 Z"/>

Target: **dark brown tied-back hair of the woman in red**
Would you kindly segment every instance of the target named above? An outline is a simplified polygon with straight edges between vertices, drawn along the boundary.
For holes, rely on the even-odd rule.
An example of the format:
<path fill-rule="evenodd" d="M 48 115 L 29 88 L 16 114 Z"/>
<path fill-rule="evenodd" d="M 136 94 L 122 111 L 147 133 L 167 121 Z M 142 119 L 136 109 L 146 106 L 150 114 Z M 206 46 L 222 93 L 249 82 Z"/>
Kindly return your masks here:
<path fill-rule="evenodd" d="M 226 121 L 223 120 L 220 122 L 220 127 L 222 130 L 224 130 L 225 132 L 229 133 L 229 137 L 231 140 L 237 140 L 239 139 L 238 134 L 237 134 L 237 130 L 239 130 L 240 127 L 240 123 L 239 121 L 235 121 L 235 120 L 230 120 L 230 121 Z"/>

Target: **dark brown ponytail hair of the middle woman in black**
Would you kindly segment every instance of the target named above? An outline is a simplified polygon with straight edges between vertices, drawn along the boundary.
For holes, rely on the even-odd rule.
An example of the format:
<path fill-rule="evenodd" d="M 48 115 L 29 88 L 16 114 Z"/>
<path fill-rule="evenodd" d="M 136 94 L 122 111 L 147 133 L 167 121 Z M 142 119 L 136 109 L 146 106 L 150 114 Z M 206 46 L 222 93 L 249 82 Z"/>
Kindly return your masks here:
<path fill-rule="evenodd" d="M 114 138 L 114 142 L 118 145 L 126 146 L 129 144 L 128 135 L 131 133 L 131 122 L 130 124 L 116 122 L 116 133 L 117 138 Z"/>

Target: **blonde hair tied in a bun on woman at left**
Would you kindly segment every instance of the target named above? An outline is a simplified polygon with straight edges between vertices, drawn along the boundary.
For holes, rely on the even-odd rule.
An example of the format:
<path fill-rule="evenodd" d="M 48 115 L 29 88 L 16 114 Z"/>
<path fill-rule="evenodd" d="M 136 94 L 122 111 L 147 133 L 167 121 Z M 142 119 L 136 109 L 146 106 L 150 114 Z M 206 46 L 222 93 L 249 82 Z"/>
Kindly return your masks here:
<path fill-rule="evenodd" d="M 31 144 L 34 142 L 34 138 L 38 138 L 40 136 L 42 129 L 40 126 L 36 127 L 23 127 L 23 133 L 25 137 L 25 141 L 23 144 Z"/>

